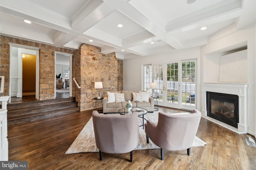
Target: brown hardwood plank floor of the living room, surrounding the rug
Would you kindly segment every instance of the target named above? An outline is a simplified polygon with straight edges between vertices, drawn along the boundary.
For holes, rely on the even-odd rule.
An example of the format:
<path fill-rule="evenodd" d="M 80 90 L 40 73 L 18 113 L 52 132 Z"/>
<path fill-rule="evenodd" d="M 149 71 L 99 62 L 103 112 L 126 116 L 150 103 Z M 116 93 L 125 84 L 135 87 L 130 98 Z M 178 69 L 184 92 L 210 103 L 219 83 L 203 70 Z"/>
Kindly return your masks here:
<path fill-rule="evenodd" d="M 178 112 L 164 107 L 159 110 Z M 160 149 L 134 150 L 133 162 L 129 162 L 129 153 L 103 153 L 102 161 L 98 152 L 65 154 L 91 114 L 91 110 L 81 111 L 8 126 L 9 160 L 26 160 L 29 170 L 256 169 L 256 148 L 246 145 L 246 135 L 238 135 L 204 118 L 197 136 L 208 145 L 192 147 L 190 156 L 186 150 L 165 150 L 164 160 L 160 160 Z"/>

